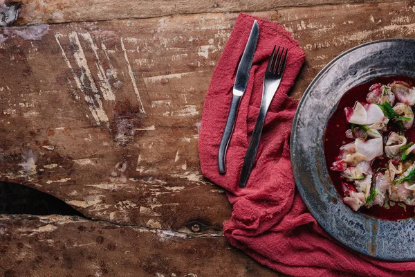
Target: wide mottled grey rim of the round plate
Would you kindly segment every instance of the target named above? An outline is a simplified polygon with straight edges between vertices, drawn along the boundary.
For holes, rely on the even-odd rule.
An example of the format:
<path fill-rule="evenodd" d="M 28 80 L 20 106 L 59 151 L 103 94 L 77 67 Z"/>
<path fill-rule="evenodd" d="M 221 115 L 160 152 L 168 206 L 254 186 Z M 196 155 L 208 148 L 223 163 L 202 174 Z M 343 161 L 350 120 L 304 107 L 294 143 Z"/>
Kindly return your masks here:
<path fill-rule="evenodd" d="M 415 220 L 395 222 L 355 213 L 327 172 L 324 130 L 342 95 L 377 77 L 415 78 L 415 39 L 385 39 L 350 49 L 329 62 L 299 102 L 291 133 L 295 183 L 317 222 L 342 244 L 385 260 L 415 260 Z"/>

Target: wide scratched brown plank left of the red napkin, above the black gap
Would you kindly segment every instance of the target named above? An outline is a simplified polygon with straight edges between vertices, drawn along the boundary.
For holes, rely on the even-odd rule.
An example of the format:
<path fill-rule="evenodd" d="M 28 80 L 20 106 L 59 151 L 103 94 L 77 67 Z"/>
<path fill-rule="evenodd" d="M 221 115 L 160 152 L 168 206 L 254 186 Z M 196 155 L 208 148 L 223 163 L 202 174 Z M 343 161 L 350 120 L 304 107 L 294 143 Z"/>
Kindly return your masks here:
<path fill-rule="evenodd" d="M 230 204 L 201 177 L 197 139 L 210 75 L 236 17 L 7 29 L 1 180 L 100 220 L 220 227 Z M 41 40 L 24 39 L 36 32 Z"/>

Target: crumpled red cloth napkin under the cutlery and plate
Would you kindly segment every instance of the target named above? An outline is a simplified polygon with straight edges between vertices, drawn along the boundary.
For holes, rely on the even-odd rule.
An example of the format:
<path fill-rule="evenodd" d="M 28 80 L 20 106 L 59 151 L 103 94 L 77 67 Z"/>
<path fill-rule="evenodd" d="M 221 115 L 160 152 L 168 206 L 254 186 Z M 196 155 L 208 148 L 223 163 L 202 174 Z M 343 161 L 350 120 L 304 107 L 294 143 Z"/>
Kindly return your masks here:
<path fill-rule="evenodd" d="M 295 190 L 288 141 L 297 101 L 287 92 L 304 62 L 304 52 L 279 24 L 257 19 L 257 51 L 228 147 L 228 172 L 219 174 L 219 143 L 239 58 L 254 20 L 241 14 L 234 25 L 206 94 L 199 137 L 203 175 L 225 188 L 233 205 L 232 218 L 223 225 L 226 238 L 261 264 L 293 276 L 415 276 L 413 262 L 376 260 L 331 238 Z M 289 49 L 286 71 L 268 110 L 248 186 L 241 189 L 238 179 L 261 103 L 264 72 L 275 44 Z"/>

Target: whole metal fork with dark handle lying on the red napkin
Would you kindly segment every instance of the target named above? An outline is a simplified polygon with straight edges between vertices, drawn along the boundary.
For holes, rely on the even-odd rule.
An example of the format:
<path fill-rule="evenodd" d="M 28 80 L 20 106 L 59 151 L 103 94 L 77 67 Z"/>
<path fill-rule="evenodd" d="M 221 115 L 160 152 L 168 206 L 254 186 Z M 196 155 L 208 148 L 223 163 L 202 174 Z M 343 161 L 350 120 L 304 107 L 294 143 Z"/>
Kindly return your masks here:
<path fill-rule="evenodd" d="M 273 54 L 270 57 L 266 73 L 264 77 L 264 85 L 262 88 L 262 100 L 261 108 L 255 123 L 254 132 L 249 142 L 248 151 L 246 152 L 245 160 L 243 161 L 243 167 L 241 172 L 241 178 L 239 179 L 239 188 L 245 188 L 248 183 L 249 175 L 252 170 L 252 166 L 257 156 L 257 150 L 259 145 L 259 139 L 261 139 L 262 128 L 264 127 L 266 112 L 270 107 L 271 100 L 273 100 L 275 92 L 279 87 L 282 75 L 287 61 L 288 48 L 278 46 L 277 52 L 273 48 Z M 282 49 L 280 52 L 279 50 Z M 284 53 L 285 52 L 285 53 Z"/>

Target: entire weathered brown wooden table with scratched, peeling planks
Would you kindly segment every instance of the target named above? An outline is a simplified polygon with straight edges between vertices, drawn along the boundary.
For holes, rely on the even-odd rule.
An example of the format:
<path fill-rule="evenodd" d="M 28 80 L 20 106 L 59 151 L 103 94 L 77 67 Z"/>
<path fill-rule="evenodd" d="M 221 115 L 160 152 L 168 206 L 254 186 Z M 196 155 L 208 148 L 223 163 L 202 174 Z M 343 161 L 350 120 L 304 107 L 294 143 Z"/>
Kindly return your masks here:
<path fill-rule="evenodd" d="M 27 28 L 0 31 L 0 180 L 85 218 L 0 215 L 0 276 L 282 276 L 222 235 L 232 207 L 197 152 L 205 91 L 240 11 L 304 48 L 297 99 L 342 51 L 414 36 L 414 2 L 347 2 L 22 0 Z"/>

